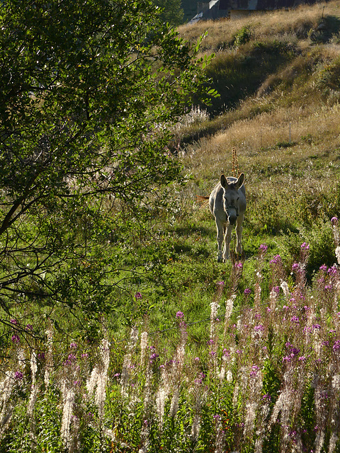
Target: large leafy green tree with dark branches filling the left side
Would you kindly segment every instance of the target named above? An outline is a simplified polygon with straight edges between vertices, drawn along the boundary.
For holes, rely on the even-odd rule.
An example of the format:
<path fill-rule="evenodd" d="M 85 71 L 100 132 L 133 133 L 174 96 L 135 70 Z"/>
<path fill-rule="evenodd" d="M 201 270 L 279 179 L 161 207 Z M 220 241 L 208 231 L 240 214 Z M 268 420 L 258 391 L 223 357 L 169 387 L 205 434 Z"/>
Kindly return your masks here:
<path fill-rule="evenodd" d="M 0 22 L 2 322 L 28 301 L 109 310 L 108 243 L 180 178 L 168 125 L 204 62 L 148 0 L 6 0 Z"/>

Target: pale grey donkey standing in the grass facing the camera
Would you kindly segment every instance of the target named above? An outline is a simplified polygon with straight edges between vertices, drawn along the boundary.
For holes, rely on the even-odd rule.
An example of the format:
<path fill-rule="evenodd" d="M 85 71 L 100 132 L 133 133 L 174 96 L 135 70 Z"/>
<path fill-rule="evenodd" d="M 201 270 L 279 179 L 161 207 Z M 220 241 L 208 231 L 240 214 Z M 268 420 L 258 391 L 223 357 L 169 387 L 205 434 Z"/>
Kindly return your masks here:
<path fill-rule="evenodd" d="M 215 216 L 217 227 L 217 261 L 225 262 L 229 258 L 232 229 L 236 224 L 237 253 L 242 253 L 242 222 L 246 211 L 246 190 L 244 173 L 238 178 L 222 175 L 209 197 L 210 212 Z M 225 246 L 222 252 L 222 242 Z"/>

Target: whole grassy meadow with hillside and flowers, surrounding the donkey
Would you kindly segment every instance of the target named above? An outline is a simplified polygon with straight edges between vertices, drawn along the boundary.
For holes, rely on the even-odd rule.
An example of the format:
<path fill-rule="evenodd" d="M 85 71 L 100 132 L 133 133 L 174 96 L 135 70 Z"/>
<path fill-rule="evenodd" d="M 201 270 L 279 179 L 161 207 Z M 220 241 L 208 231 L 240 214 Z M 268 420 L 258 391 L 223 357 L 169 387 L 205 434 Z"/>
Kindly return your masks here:
<path fill-rule="evenodd" d="M 113 316 L 6 319 L 1 452 L 340 451 L 339 23 L 331 1 L 179 28 L 208 31 L 221 93 L 174 128 L 186 185 L 112 239 Z M 241 171 L 244 251 L 217 263 L 196 197 Z"/>

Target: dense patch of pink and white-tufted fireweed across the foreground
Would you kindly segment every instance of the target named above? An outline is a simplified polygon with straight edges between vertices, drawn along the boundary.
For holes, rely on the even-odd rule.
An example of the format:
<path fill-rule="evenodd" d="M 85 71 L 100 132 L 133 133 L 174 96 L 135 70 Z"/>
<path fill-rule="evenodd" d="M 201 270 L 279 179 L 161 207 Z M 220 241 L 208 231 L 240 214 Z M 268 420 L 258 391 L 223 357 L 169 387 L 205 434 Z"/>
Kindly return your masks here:
<path fill-rule="evenodd" d="M 290 275 L 261 244 L 254 280 L 242 308 L 234 308 L 243 270 L 235 263 L 227 300 L 225 283 L 217 282 L 205 348 L 190 343 L 191 326 L 178 311 L 169 348 L 135 327 L 124 347 L 103 333 L 97 350 L 70 343 L 60 361 L 52 328 L 38 352 L 9 320 L 1 452 L 339 451 L 336 217 L 331 227 L 338 264 L 322 265 L 311 284 L 307 243 Z M 265 268 L 268 297 L 261 296 Z"/>

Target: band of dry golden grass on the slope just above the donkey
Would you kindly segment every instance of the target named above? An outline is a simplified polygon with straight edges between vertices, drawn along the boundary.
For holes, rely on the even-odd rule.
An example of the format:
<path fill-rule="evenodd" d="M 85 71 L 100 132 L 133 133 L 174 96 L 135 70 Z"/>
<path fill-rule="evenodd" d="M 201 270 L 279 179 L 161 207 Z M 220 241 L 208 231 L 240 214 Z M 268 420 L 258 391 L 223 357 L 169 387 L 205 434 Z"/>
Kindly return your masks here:
<path fill-rule="evenodd" d="M 239 168 L 249 182 L 256 183 L 262 178 L 261 173 L 268 166 L 290 166 L 292 161 L 302 173 L 313 173 L 308 163 L 310 156 L 323 156 L 328 161 L 334 158 L 332 150 L 340 142 L 339 115 L 339 104 L 325 105 L 317 111 L 312 107 L 300 110 L 295 105 L 261 113 L 236 121 L 211 138 L 201 139 L 188 149 L 184 162 L 196 178 L 216 180 L 221 173 L 232 173 L 232 149 L 236 147 Z M 289 171 L 276 175 L 276 183 L 280 184 L 287 176 L 292 178 Z M 315 174 L 317 179 L 326 176 Z"/>

